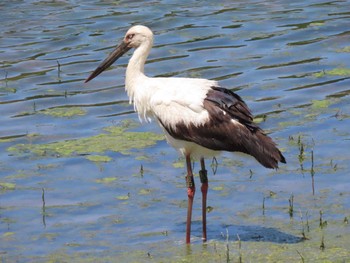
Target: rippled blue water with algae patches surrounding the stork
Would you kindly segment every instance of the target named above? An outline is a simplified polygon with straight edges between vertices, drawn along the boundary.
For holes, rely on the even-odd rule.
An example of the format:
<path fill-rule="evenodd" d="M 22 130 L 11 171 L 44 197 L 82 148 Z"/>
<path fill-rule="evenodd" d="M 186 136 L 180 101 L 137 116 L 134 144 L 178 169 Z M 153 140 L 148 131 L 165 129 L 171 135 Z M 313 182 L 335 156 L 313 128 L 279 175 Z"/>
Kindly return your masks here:
<path fill-rule="evenodd" d="M 2 261 L 349 260 L 349 10 L 349 1 L 2 1 Z M 137 124 L 128 56 L 83 83 L 134 24 L 155 33 L 148 75 L 219 80 L 288 162 L 270 171 L 218 158 L 210 241 L 201 245 L 198 193 L 192 251 L 183 160 L 156 124 Z"/>

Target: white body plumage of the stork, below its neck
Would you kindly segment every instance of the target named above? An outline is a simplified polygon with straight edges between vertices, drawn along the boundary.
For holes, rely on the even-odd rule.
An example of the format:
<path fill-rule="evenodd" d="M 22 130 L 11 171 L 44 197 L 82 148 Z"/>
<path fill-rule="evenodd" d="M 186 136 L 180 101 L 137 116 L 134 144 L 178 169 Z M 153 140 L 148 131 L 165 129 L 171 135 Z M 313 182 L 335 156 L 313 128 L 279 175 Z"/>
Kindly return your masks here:
<path fill-rule="evenodd" d="M 190 80 L 190 81 L 189 81 Z M 141 121 L 158 121 L 170 145 L 182 155 L 193 158 L 215 155 L 216 151 L 190 141 L 178 140 L 165 127 L 176 130 L 176 125 L 199 126 L 209 120 L 209 113 L 203 106 L 210 86 L 215 81 L 186 78 L 144 78 L 140 86 L 135 85 L 134 106 Z M 147 102 L 147 103 L 145 103 Z"/>

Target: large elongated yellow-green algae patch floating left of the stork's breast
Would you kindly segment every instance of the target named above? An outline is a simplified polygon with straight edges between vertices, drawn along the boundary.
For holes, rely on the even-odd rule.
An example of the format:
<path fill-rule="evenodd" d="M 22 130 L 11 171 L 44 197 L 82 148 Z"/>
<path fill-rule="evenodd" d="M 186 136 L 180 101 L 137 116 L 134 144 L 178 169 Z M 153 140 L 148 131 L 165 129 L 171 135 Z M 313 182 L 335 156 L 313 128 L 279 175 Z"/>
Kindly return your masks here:
<path fill-rule="evenodd" d="M 47 144 L 21 143 L 7 148 L 12 154 L 33 154 L 36 157 L 69 157 L 76 155 L 90 155 L 108 151 L 119 152 L 124 155 L 133 154 L 132 149 L 142 149 L 152 146 L 164 137 L 152 132 L 132 132 L 123 126 L 110 126 L 104 128 L 105 133 L 91 137 L 57 141 Z M 95 155 L 86 157 L 91 161 L 109 161 L 109 157 Z"/>

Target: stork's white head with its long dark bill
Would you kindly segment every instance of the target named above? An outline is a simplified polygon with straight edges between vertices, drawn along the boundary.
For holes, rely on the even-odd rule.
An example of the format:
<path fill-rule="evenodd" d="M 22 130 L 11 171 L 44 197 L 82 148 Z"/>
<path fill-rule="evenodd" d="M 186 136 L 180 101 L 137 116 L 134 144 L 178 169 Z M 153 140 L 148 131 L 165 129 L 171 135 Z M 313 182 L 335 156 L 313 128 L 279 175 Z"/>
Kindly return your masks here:
<path fill-rule="evenodd" d="M 126 32 L 123 41 L 116 47 L 116 49 L 112 51 L 111 54 L 109 54 L 109 56 L 104 61 L 102 61 L 102 63 L 94 70 L 94 72 L 90 74 L 85 82 L 88 82 L 97 77 L 131 48 L 138 48 L 144 43 L 147 43 L 148 46 L 152 46 L 152 31 L 148 27 L 142 25 L 131 27 L 128 32 Z"/>

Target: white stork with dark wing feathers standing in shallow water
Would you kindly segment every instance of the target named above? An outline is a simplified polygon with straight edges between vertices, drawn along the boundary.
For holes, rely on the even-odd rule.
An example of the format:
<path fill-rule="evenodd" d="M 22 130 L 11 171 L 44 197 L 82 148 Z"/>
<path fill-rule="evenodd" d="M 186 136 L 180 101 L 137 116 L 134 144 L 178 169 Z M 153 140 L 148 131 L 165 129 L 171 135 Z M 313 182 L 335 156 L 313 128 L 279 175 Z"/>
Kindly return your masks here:
<path fill-rule="evenodd" d="M 204 158 L 220 151 L 242 152 L 266 168 L 286 163 L 272 139 L 254 122 L 251 111 L 236 93 L 217 81 L 200 78 L 147 77 L 144 65 L 153 45 L 152 31 L 131 27 L 123 41 L 85 80 L 88 82 L 134 48 L 126 69 L 125 89 L 141 121 L 155 119 L 166 140 L 186 159 L 186 243 L 191 240 L 192 206 L 195 195 L 192 160 L 199 160 L 202 192 L 202 239 L 207 240 L 206 207 L 208 178 Z"/>

